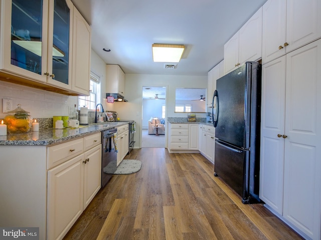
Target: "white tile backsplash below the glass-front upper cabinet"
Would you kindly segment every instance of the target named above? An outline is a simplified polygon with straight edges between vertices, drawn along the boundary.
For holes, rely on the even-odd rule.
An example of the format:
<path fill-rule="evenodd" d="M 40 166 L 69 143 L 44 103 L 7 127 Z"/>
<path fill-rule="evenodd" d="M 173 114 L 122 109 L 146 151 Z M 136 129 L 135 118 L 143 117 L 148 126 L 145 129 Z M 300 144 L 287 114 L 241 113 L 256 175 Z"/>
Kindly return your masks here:
<path fill-rule="evenodd" d="M 68 96 L 0 80 L 0 118 L 8 114 L 3 112 L 3 98 L 13 100 L 13 109 L 20 103 L 22 108 L 29 111 L 34 118 L 69 115 L 69 107 L 78 103 L 77 96 Z"/>

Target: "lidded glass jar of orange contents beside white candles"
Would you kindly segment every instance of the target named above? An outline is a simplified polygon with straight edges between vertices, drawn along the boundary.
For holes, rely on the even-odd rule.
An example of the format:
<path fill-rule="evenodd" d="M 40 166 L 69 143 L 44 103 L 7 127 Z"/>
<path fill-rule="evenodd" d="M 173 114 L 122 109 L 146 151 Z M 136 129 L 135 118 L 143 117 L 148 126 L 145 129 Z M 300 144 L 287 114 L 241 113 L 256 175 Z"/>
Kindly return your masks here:
<path fill-rule="evenodd" d="M 15 110 L 9 111 L 4 121 L 7 124 L 9 133 L 25 133 L 32 129 L 32 116 L 25 111 L 21 104 Z"/>

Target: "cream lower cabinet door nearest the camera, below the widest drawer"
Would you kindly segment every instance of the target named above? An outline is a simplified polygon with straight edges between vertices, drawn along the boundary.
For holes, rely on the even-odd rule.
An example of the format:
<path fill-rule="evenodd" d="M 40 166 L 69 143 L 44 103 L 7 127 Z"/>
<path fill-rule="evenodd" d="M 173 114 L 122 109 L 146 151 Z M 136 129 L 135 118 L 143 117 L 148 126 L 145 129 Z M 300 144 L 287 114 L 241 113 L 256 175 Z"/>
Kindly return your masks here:
<path fill-rule="evenodd" d="M 84 154 L 48 171 L 48 239 L 62 239 L 83 211 Z"/>

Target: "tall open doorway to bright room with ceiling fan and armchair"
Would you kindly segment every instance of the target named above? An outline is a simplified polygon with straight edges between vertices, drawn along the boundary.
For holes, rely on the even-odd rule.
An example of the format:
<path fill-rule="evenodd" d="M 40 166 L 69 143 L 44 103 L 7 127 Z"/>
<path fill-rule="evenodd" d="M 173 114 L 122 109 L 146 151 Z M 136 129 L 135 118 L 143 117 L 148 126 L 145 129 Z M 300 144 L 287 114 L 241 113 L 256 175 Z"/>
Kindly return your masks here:
<path fill-rule="evenodd" d="M 141 147 L 165 147 L 166 86 L 142 87 Z"/>

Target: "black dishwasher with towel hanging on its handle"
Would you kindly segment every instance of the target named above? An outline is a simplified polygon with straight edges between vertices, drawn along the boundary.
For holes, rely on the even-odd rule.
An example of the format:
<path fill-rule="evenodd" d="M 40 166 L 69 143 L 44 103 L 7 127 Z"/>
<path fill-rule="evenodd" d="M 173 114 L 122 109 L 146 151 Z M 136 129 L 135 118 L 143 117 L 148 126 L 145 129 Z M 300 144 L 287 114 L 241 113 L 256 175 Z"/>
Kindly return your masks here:
<path fill-rule="evenodd" d="M 110 128 L 101 132 L 101 187 L 106 185 L 117 169 L 117 151 L 114 146 L 114 137 L 117 139 L 117 128 Z M 108 167 L 108 173 L 106 172 Z"/>

